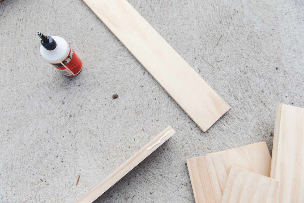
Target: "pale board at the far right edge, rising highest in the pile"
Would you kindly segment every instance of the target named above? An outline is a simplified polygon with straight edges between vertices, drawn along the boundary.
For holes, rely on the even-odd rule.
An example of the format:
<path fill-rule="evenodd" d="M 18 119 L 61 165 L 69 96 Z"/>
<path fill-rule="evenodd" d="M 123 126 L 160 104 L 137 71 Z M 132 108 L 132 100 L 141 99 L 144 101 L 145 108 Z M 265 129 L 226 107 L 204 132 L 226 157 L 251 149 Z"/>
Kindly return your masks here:
<path fill-rule="evenodd" d="M 304 202 L 304 109 L 277 106 L 270 177 L 280 181 L 279 202 Z"/>

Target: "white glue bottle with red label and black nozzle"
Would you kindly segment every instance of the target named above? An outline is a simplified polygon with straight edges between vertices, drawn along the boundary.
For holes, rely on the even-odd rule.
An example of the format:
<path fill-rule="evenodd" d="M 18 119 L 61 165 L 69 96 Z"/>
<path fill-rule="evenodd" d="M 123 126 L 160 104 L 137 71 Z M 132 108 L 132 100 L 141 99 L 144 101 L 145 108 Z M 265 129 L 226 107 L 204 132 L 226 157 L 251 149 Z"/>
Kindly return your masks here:
<path fill-rule="evenodd" d="M 58 36 L 44 36 L 40 32 L 37 34 L 41 38 L 40 54 L 47 62 L 69 77 L 81 71 L 81 60 L 66 40 Z"/>

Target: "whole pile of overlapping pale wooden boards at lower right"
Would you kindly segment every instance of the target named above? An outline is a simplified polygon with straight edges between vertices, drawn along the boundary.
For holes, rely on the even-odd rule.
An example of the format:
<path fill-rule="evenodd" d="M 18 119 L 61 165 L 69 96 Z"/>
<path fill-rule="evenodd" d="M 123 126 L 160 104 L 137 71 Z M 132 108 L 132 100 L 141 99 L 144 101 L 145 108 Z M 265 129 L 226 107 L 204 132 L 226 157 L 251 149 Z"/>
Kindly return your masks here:
<path fill-rule="evenodd" d="M 196 202 L 304 202 L 304 109 L 277 107 L 266 142 L 187 159 Z"/>

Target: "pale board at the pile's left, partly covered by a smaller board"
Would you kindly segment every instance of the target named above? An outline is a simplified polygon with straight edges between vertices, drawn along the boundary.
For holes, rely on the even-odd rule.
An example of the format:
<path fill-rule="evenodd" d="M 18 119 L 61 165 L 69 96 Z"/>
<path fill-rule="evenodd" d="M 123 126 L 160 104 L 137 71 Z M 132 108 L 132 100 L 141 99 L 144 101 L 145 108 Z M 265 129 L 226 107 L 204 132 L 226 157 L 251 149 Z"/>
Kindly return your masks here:
<path fill-rule="evenodd" d="M 271 158 L 265 142 L 187 159 L 195 202 L 219 203 L 230 166 L 269 176 Z"/>

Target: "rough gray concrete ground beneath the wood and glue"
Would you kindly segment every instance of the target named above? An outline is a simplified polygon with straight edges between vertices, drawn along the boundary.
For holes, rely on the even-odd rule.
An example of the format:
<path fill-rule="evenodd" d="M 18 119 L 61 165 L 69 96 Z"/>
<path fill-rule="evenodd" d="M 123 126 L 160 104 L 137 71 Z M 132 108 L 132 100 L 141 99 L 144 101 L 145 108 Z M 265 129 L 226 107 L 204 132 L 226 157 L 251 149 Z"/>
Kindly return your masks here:
<path fill-rule="evenodd" d="M 194 202 L 185 159 L 271 152 L 276 106 L 304 107 L 303 1 L 129 2 L 231 109 L 202 132 L 81 0 L 4 0 L 1 202 L 75 202 L 168 125 L 176 134 L 96 202 Z M 64 37 L 82 72 L 47 64 L 37 31 Z"/>

